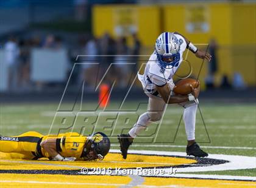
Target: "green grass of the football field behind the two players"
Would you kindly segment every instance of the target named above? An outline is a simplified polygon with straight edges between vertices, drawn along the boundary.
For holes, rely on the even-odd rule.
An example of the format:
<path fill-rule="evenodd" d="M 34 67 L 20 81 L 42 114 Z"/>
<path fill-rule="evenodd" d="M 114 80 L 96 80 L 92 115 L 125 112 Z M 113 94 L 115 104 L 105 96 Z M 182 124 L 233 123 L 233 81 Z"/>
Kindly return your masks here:
<path fill-rule="evenodd" d="M 73 106 L 65 103 L 55 119 L 59 106 L 56 103 L 1 104 L 1 135 L 20 135 L 27 131 L 48 133 L 73 131 L 90 135 L 102 131 L 110 135 L 112 149 L 118 149 L 116 135 L 127 133 L 136 122 L 138 115 L 146 110 L 146 104 L 127 102 L 117 110 L 120 102 L 111 102 L 107 112 L 96 109 L 96 103 Z M 84 112 L 80 112 L 80 109 Z M 208 153 L 226 155 L 255 156 L 256 146 L 256 106 L 255 103 L 226 103 L 203 101 L 200 104 L 202 117 L 197 110 L 196 139 Z M 119 112 L 119 113 L 118 113 Z M 74 116 L 77 120 L 74 123 Z M 130 149 L 164 150 L 185 152 L 186 135 L 182 108 L 169 105 L 162 122 L 152 123 L 141 137 L 135 139 Z M 64 119 L 64 120 L 63 120 Z M 53 121 L 54 120 L 54 121 Z M 205 126 L 203 123 L 205 122 Z M 256 161 L 255 161 L 256 163 Z M 197 172 L 199 173 L 199 172 Z M 256 176 L 256 169 L 226 170 L 219 172 L 202 172 L 204 174 Z"/>

